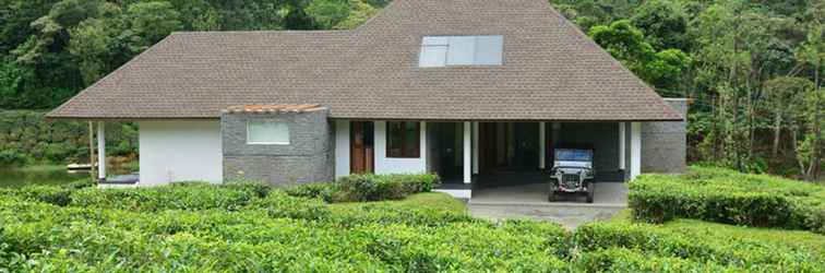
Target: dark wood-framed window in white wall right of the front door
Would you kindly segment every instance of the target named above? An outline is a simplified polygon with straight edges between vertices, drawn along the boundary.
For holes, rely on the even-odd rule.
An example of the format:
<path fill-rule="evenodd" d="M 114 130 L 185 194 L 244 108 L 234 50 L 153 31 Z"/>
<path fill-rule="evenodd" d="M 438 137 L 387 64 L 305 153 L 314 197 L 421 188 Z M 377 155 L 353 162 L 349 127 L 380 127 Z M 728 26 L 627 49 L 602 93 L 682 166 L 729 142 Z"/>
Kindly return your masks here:
<path fill-rule="evenodd" d="M 418 158 L 421 145 L 420 122 L 386 122 L 386 157 Z"/>

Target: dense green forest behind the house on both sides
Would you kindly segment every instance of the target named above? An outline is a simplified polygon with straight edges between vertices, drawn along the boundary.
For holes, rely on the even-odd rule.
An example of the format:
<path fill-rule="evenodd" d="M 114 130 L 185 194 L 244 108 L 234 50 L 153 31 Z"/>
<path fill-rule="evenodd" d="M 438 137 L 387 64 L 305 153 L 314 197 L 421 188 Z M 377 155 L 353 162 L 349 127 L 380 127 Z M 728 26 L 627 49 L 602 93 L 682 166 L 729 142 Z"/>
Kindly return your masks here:
<path fill-rule="evenodd" d="M 0 0 L 0 108 L 48 109 L 176 31 L 346 29 L 390 0 Z M 825 0 L 553 0 L 662 96 L 689 157 L 816 179 Z"/>

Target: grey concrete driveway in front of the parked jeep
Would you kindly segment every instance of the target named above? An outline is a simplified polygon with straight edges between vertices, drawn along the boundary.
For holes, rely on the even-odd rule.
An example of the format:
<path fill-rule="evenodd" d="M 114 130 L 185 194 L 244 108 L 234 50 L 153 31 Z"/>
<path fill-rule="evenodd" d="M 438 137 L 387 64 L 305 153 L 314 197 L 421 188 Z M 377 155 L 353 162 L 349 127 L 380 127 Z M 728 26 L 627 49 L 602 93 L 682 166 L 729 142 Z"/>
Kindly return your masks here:
<path fill-rule="evenodd" d="M 585 223 L 609 219 L 627 207 L 627 185 L 596 183 L 593 203 L 586 203 L 582 195 L 562 195 L 559 200 L 548 201 L 546 183 L 530 183 L 473 190 L 467 207 L 477 217 L 550 221 L 573 229 Z"/>

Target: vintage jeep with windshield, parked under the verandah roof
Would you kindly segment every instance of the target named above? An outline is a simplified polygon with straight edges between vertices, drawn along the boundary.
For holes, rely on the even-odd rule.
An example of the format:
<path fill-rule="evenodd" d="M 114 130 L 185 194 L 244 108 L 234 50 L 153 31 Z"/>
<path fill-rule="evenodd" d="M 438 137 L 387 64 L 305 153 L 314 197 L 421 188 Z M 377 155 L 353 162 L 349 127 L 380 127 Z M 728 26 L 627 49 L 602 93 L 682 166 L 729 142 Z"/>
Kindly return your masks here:
<path fill-rule="evenodd" d="M 550 202 L 555 201 L 557 194 L 586 194 L 587 202 L 593 203 L 595 190 L 593 169 L 593 149 L 554 150 L 553 167 L 550 169 Z"/>

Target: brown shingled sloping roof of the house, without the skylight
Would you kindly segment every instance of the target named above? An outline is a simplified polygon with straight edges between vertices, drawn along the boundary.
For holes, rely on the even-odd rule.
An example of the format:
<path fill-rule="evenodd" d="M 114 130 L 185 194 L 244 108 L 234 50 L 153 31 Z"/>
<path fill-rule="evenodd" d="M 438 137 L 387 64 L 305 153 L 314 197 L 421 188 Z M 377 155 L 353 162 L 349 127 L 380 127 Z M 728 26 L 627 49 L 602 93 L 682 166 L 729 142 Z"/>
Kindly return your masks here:
<path fill-rule="evenodd" d="M 423 36 L 502 35 L 502 66 L 419 68 Z M 217 118 L 319 104 L 332 118 L 681 120 L 546 0 L 395 0 L 354 31 L 176 33 L 49 114 Z"/>

